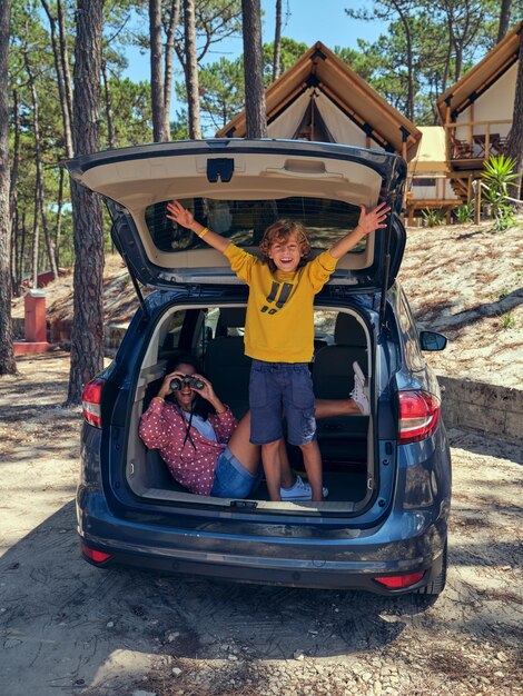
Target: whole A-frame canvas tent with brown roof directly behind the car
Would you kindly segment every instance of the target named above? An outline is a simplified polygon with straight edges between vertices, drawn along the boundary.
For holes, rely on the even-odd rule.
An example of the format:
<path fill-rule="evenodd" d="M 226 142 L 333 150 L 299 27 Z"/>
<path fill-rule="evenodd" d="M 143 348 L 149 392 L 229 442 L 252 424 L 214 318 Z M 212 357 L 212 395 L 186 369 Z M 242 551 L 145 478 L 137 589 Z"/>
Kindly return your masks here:
<path fill-rule="evenodd" d="M 420 130 L 320 41 L 265 93 L 270 138 L 341 142 L 416 155 Z M 217 132 L 245 138 L 245 111 Z"/>

